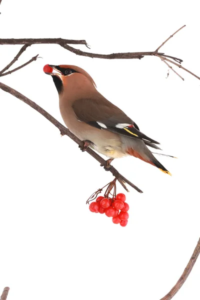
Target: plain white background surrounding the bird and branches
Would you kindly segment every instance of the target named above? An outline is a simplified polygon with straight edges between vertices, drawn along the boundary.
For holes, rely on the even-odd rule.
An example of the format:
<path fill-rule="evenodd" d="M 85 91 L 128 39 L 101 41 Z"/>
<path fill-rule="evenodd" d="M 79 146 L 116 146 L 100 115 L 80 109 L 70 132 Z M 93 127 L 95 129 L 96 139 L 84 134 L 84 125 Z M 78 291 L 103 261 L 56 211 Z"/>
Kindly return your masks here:
<path fill-rule="evenodd" d="M 2 0 L 1 38 L 86 39 L 92 52 L 162 48 L 200 75 L 199 8 L 188 1 Z M 83 45 L 77 45 L 89 51 Z M 20 45 L 0 46 L 0 68 Z M 89 154 L 38 112 L 0 90 L 0 292 L 9 300 L 160 299 L 175 284 L 200 235 L 200 81 L 157 57 L 103 60 L 76 56 L 59 45 L 32 45 L 16 66 L 36 62 L 1 81 L 62 122 L 58 95 L 42 67 L 75 64 L 146 135 L 160 141 L 156 156 L 168 176 L 134 157 L 113 165 L 143 190 L 130 188 L 126 227 L 91 213 L 88 196 L 112 179 Z M 62 122 L 63 123 L 63 122 Z M 120 185 L 117 191 L 123 192 Z M 176 300 L 199 299 L 200 259 Z"/>

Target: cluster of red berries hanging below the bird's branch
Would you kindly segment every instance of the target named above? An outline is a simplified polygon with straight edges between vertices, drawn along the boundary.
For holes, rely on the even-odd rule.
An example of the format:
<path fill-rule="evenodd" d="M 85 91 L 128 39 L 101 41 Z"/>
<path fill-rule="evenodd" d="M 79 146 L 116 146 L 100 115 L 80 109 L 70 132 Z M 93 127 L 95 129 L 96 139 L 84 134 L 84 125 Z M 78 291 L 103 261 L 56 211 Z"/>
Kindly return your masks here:
<path fill-rule="evenodd" d="M 89 204 L 91 212 L 105 213 L 106 216 L 112 217 L 114 224 L 120 224 L 122 227 L 127 225 L 128 209 L 129 205 L 125 202 L 123 193 L 118 193 L 114 199 L 99 196 Z"/>

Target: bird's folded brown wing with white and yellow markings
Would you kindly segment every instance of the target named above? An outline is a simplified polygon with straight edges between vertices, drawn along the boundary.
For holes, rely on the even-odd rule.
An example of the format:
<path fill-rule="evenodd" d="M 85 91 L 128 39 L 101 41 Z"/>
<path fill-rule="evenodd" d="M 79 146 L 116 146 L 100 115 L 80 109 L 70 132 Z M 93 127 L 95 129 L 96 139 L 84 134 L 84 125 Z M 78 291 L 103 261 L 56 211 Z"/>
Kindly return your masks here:
<path fill-rule="evenodd" d="M 159 144 L 156 140 L 143 134 L 134 121 L 101 94 L 95 98 L 77 99 L 73 102 L 72 108 L 79 121 L 91 126 L 142 139 L 144 142 Z"/>

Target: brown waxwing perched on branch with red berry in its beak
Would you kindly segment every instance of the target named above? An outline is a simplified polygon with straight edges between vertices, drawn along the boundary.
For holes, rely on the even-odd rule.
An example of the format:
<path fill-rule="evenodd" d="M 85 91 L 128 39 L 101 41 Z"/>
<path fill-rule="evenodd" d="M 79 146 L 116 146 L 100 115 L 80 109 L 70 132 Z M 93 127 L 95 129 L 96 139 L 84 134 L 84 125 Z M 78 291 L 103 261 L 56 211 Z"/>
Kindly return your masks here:
<path fill-rule="evenodd" d="M 106 170 L 114 158 L 130 155 L 171 175 L 147 147 L 160 149 L 159 142 L 142 133 L 131 118 L 99 93 L 85 70 L 75 65 L 46 64 L 43 71 L 53 79 L 65 125 L 83 141 L 82 150 L 89 146 L 107 156 Z"/>

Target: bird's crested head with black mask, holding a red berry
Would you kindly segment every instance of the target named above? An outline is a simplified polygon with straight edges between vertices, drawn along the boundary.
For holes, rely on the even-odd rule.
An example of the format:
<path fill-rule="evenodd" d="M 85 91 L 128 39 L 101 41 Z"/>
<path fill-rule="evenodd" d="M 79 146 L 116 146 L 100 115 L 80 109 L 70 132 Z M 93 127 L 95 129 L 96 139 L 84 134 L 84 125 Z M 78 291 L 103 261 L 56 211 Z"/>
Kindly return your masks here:
<path fill-rule="evenodd" d="M 85 70 L 75 65 L 46 64 L 43 67 L 43 71 L 52 76 L 58 94 L 62 93 L 64 89 L 73 90 L 96 87 L 91 76 Z"/>

